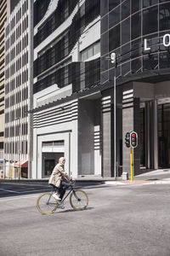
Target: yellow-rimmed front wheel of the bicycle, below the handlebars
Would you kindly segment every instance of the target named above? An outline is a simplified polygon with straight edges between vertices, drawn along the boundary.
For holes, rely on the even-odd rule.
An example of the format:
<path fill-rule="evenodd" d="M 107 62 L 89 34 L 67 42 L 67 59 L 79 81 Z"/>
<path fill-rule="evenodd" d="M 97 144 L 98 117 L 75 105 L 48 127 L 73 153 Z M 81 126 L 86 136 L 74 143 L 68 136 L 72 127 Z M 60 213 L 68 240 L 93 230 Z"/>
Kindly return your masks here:
<path fill-rule="evenodd" d="M 81 189 L 73 190 L 70 203 L 74 210 L 82 211 L 88 207 L 88 195 Z"/>

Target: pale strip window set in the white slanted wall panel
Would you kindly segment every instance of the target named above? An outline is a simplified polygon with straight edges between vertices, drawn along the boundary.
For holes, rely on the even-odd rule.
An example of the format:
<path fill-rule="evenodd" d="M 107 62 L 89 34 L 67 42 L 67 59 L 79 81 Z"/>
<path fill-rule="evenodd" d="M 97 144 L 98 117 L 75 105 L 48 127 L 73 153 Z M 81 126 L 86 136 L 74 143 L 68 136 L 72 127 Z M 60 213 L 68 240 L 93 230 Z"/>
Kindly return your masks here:
<path fill-rule="evenodd" d="M 81 61 L 86 61 L 100 52 L 100 42 L 90 45 L 87 49 L 83 49 L 80 53 Z"/>

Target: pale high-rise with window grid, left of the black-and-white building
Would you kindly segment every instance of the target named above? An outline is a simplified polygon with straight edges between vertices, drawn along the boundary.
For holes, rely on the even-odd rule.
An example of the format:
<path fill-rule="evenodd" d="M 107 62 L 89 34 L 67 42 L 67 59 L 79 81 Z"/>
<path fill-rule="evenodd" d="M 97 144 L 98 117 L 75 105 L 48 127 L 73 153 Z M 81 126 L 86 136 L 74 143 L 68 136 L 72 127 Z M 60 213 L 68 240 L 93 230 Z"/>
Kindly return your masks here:
<path fill-rule="evenodd" d="M 5 23 L 5 175 L 31 177 L 33 4 L 22 0 L 13 8 Z"/>

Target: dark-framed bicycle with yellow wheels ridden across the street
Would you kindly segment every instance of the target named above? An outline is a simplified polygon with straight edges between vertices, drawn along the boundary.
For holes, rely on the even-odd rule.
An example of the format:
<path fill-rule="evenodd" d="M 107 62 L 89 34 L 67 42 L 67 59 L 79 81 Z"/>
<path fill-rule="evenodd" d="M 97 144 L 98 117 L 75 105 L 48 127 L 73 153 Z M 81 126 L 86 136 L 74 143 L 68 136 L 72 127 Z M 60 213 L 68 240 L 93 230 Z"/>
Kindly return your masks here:
<path fill-rule="evenodd" d="M 85 210 L 88 207 L 88 195 L 82 189 L 74 189 L 70 183 L 71 190 L 65 195 L 62 201 L 53 197 L 55 189 L 40 195 L 37 199 L 37 210 L 42 214 L 51 214 L 63 204 L 68 195 L 70 196 L 71 207 L 76 211 Z M 62 207 L 61 207 L 62 208 Z"/>

